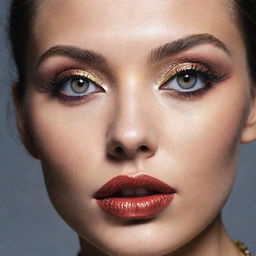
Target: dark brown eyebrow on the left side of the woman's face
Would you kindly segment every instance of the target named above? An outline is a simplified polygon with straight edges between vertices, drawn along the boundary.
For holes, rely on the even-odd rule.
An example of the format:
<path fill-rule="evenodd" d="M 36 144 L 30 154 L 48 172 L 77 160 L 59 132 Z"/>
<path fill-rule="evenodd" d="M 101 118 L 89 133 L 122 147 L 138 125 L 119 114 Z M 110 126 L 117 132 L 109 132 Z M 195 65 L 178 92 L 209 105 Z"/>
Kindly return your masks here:
<path fill-rule="evenodd" d="M 69 45 L 56 45 L 48 49 L 39 58 L 37 66 L 43 63 L 47 58 L 51 56 L 67 56 L 72 59 L 81 60 L 86 63 L 105 64 L 106 59 L 103 55 L 91 50 L 81 49 Z"/>

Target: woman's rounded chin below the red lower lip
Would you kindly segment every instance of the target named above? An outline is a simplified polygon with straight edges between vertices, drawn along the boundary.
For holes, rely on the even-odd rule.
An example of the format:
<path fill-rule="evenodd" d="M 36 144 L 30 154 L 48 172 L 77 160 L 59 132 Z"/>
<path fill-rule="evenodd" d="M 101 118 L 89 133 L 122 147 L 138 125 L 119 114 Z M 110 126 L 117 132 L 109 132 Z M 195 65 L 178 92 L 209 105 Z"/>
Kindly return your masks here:
<path fill-rule="evenodd" d="M 109 256 L 163 256 L 175 251 L 184 242 L 180 236 L 170 241 L 168 234 L 156 232 L 152 227 L 146 227 L 144 224 L 140 226 L 140 228 L 133 227 L 134 229 L 129 231 L 123 227 L 126 229 L 123 230 L 124 232 L 113 230 L 108 232 L 107 229 L 102 228 L 100 235 L 90 234 L 88 236 L 87 233 L 82 240 L 87 241 L 85 248 L 88 248 L 89 243 Z"/>

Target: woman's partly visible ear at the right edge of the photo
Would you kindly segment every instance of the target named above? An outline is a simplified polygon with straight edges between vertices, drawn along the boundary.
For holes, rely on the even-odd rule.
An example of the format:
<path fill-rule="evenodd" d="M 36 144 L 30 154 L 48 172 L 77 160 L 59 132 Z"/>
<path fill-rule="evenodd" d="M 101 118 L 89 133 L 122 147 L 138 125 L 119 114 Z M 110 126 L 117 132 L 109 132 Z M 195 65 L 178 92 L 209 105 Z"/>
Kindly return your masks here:
<path fill-rule="evenodd" d="M 250 143 L 256 140 L 256 87 L 252 90 L 251 95 L 249 114 L 242 131 L 241 143 Z"/>

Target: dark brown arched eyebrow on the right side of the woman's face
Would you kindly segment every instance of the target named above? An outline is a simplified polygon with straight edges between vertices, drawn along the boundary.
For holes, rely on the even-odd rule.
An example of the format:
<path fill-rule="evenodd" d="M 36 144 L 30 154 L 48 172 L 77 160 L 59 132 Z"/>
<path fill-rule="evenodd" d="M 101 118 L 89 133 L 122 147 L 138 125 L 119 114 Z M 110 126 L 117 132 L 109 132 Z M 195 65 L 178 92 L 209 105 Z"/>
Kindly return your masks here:
<path fill-rule="evenodd" d="M 166 43 L 156 49 L 153 49 L 150 52 L 149 60 L 151 62 L 161 61 L 164 58 L 171 57 L 202 44 L 211 44 L 231 56 L 231 51 L 218 38 L 211 34 L 195 34 L 177 39 L 173 42 Z"/>

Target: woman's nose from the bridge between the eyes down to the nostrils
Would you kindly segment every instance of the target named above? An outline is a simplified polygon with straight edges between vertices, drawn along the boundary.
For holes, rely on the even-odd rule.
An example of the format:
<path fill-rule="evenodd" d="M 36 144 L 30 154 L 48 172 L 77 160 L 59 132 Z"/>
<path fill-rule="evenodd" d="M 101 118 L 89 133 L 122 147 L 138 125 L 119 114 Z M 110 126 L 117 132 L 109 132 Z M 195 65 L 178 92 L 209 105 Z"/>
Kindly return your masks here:
<path fill-rule="evenodd" d="M 157 149 L 150 118 L 150 90 L 136 79 L 119 84 L 112 123 L 107 134 L 107 151 L 115 158 L 152 156 Z"/>

